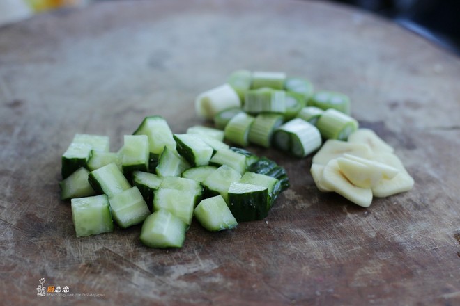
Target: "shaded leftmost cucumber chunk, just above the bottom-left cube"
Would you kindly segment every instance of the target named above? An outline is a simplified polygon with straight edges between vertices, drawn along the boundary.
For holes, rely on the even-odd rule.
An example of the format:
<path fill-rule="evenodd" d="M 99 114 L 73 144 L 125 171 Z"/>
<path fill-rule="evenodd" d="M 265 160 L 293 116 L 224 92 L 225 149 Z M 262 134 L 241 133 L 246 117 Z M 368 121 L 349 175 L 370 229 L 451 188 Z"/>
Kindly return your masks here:
<path fill-rule="evenodd" d="M 59 182 L 61 200 L 95 195 L 93 187 L 88 182 L 88 176 L 89 170 L 82 167 Z"/>

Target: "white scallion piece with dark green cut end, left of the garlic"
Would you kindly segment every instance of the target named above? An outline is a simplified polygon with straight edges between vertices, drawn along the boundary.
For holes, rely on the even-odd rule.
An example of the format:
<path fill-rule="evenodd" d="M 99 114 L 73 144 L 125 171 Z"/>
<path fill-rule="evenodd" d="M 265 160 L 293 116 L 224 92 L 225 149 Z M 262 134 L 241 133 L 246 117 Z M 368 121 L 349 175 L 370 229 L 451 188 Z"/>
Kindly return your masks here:
<path fill-rule="evenodd" d="M 305 157 L 321 147 L 321 134 L 313 124 L 300 118 L 286 122 L 275 131 L 274 143 L 294 156 Z"/>

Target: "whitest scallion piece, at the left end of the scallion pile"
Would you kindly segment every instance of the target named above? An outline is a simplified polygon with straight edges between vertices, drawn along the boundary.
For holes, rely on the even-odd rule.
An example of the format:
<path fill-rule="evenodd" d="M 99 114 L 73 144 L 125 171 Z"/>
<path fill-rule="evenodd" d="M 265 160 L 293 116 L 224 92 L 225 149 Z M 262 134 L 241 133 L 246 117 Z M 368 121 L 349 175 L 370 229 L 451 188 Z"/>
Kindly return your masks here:
<path fill-rule="evenodd" d="M 201 93 L 195 100 L 197 115 L 206 119 L 213 119 L 215 114 L 224 109 L 240 106 L 240 97 L 227 83 Z"/>

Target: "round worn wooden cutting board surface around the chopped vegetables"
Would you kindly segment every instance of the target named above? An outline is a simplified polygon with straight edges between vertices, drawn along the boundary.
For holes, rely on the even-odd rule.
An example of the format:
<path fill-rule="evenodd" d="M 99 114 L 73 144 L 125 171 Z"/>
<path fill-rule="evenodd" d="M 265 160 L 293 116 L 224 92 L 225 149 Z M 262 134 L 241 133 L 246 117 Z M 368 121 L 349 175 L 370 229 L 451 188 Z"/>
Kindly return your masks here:
<path fill-rule="evenodd" d="M 233 70 L 345 92 L 415 178 L 362 209 L 316 190 L 311 156 L 260 150 L 292 187 L 266 220 L 179 250 L 140 227 L 75 238 L 59 200 L 75 133 L 118 150 L 146 115 L 204 124 L 194 97 Z M 459 305 L 460 62 L 399 26 L 328 3 L 114 1 L 0 29 L 2 305 Z M 67 295 L 37 297 L 45 286 Z"/>

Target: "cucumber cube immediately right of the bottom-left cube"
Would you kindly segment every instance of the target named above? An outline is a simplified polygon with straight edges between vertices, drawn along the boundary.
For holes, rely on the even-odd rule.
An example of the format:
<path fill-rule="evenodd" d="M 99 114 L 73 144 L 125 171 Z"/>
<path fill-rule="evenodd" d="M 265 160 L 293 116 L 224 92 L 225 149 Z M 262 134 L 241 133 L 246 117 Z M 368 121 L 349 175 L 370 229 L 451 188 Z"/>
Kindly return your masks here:
<path fill-rule="evenodd" d="M 126 228 L 141 223 L 150 210 L 139 189 L 134 186 L 109 197 L 110 208 L 115 222 Z"/>

